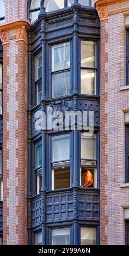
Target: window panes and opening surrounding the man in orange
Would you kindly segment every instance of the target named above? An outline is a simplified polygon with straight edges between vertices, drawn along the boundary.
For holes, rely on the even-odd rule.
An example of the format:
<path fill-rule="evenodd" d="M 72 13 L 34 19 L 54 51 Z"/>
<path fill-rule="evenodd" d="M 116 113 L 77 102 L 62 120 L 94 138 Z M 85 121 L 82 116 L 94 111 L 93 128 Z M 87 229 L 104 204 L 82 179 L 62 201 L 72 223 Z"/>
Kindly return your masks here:
<path fill-rule="evenodd" d="M 81 133 L 81 170 L 80 183 L 85 184 L 82 167 L 87 167 L 93 176 L 93 187 L 97 187 L 96 134 Z"/>

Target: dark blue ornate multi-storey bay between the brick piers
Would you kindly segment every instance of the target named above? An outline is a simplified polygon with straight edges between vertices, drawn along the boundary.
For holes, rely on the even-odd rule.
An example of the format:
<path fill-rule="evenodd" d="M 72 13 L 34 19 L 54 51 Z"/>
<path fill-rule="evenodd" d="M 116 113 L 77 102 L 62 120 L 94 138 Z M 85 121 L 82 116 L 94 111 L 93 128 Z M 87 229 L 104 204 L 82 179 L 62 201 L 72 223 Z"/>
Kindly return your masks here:
<path fill-rule="evenodd" d="M 28 243 L 99 244 L 99 40 L 91 0 L 28 1 Z M 88 129 L 37 130 L 48 109 L 87 113 Z M 90 112 L 90 114 L 89 114 Z M 89 129 L 89 116 L 94 131 Z M 60 126 L 59 126 L 60 127 Z M 63 128 L 63 127 L 62 127 Z M 86 167 L 93 187 L 82 187 Z"/>

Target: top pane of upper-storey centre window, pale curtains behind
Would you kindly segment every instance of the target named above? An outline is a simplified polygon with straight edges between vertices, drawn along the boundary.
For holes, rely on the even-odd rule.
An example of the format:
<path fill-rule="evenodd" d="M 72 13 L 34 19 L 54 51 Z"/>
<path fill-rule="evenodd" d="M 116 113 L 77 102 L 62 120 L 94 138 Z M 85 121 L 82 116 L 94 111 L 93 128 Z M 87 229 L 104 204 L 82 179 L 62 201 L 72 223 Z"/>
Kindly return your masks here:
<path fill-rule="evenodd" d="M 70 42 L 52 46 L 52 71 L 70 69 Z"/>

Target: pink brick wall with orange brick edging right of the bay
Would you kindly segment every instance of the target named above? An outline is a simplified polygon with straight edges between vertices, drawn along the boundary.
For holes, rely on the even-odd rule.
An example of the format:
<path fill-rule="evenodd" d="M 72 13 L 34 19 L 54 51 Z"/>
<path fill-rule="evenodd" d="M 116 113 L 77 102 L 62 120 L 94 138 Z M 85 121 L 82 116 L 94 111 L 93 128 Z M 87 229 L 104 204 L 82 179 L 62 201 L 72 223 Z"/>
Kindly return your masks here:
<path fill-rule="evenodd" d="M 124 112 L 129 111 L 126 85 L 125 16 L 129 1 L 108 7 L 101 20 L 101 164 L 100 164 L 100 236 L 101 245 L 125 245 L 124 207 L 129 204 L 125 183 Z M 102 16 L 101 16 L 102 17 Z"/>

